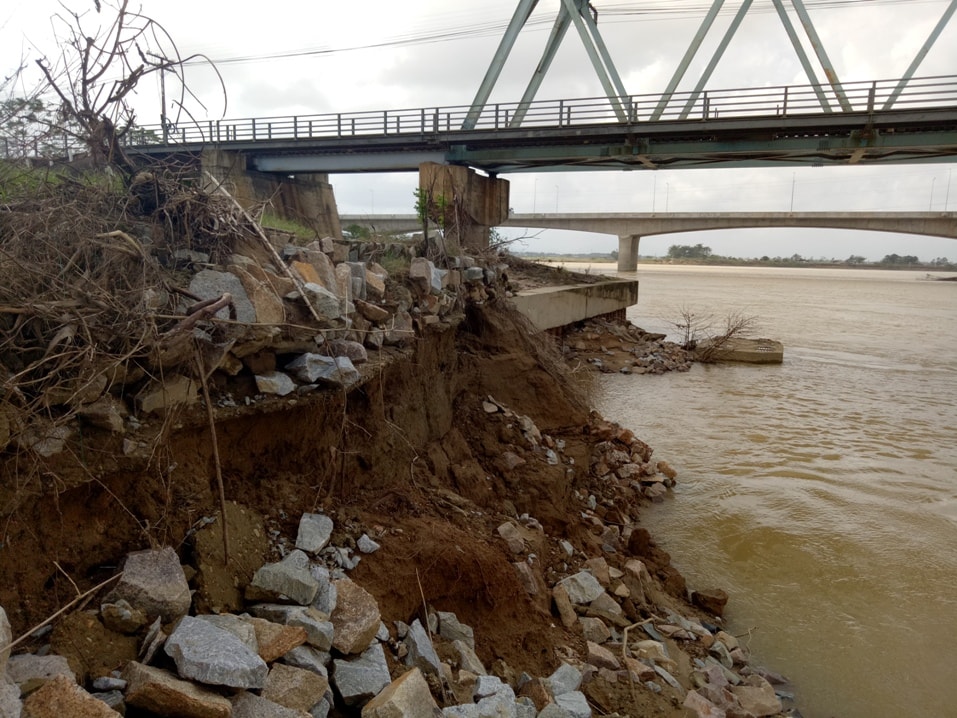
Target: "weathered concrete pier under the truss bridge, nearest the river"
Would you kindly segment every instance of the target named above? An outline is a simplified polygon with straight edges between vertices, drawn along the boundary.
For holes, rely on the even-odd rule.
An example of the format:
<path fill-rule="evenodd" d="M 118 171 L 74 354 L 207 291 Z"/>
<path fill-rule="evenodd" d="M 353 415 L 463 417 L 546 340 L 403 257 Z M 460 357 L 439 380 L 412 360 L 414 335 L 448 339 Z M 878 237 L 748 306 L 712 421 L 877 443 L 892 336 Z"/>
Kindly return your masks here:
<path fill-rule="evenodd" d="M 445 231 L 448 249 L 487 249 L 489 230 L 508 218 L 508 181 L 425 162 L 419 165 L 419 209 Z"/>

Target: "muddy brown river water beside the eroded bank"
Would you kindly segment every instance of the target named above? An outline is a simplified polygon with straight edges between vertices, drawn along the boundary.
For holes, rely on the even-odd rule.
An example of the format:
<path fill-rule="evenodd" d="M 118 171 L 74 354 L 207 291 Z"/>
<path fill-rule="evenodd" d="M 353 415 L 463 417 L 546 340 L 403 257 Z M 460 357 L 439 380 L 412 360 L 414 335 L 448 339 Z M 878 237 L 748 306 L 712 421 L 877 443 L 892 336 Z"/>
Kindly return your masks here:
<path fill-rule="evenodd" d="M 779 366 L 603 377 L 605 416 L 679 472 L 643 523 L 691 588 L 728 591 L 732 631 L 805 718 L 957 716 L 957 283 L 637 277 L 634 324 L 675 335 L 682 307 L 740 311 L 785 346 Z"/>

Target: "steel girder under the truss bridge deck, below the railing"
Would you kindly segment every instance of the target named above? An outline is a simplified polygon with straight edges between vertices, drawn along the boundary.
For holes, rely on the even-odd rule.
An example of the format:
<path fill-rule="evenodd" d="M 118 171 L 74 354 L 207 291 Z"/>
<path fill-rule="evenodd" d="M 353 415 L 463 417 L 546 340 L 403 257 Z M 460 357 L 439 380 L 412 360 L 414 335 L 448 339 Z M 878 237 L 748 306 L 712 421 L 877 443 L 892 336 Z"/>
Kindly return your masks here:
<path fill-rule="evenodd" d="M 417 136 L 408 144 L 390 137 L 270 145 L 229 149 L 246 152 L 253 169 L 284 174 L 411 172 L 422 162 L 490 174 L 957 162 L 957 108 L 472 130 Z"/>

